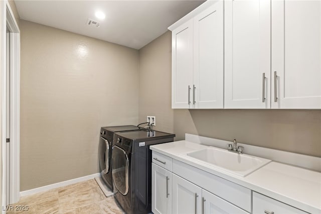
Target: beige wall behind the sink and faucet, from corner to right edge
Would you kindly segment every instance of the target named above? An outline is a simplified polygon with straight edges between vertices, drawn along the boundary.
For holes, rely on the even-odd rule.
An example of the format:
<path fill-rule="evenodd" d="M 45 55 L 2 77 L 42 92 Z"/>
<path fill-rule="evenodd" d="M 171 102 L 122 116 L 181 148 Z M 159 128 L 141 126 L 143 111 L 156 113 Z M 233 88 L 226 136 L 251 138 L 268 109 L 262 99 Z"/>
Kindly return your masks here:
<path fill-rule="evenodd" d="M 171 109 L 171 32 L 139 51 L 139 121 L 156 116 L 155 130 L 185 133 L 321 157 L 320 110 Z M 153 84 L 151 80 L 155 80 Z"/>

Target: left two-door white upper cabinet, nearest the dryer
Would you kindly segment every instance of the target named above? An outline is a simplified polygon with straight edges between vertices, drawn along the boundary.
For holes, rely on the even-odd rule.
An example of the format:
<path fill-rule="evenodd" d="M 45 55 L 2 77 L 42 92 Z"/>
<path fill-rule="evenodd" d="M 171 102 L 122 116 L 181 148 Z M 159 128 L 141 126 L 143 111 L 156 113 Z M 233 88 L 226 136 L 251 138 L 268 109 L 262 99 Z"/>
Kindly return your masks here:
<path fill-rule="evenodd" d="M 223 1 L 207 4 L 172 32 L 173 109 L 223 109 Z"/>

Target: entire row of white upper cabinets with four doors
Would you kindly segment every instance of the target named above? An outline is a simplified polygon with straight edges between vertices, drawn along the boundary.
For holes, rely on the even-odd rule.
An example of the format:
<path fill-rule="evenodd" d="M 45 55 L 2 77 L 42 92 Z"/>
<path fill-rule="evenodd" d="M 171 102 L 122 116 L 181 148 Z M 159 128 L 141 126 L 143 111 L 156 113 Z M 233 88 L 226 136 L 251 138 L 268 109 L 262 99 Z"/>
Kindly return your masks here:
<path fill-rule="evenodd" d="M 321 1 L 206 1 L 172 25 L 173 109 L 321 109 Z"/>

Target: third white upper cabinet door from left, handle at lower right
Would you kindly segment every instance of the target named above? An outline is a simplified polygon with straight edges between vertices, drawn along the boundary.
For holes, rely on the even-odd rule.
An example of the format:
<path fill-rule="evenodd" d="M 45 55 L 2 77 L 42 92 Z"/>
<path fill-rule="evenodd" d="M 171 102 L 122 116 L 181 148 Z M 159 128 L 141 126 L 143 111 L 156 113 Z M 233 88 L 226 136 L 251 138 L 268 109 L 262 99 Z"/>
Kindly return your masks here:
<path fill-rule="evenodd" d="M 225 109 L 270 108 L 270 7 L 269 0 L 225 1 Z"/>

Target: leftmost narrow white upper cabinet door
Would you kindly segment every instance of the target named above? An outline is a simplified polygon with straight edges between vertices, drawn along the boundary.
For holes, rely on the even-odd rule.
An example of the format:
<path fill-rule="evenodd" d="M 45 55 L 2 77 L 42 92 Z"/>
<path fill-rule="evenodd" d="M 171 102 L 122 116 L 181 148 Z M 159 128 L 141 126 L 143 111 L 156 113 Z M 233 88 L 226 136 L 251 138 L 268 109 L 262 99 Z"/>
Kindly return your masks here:
<path fill-rule="evenodd" d="M 172 108 L 191 108 L 192 93 L 193 20 L 190 20 L 172 32 Z"/>

